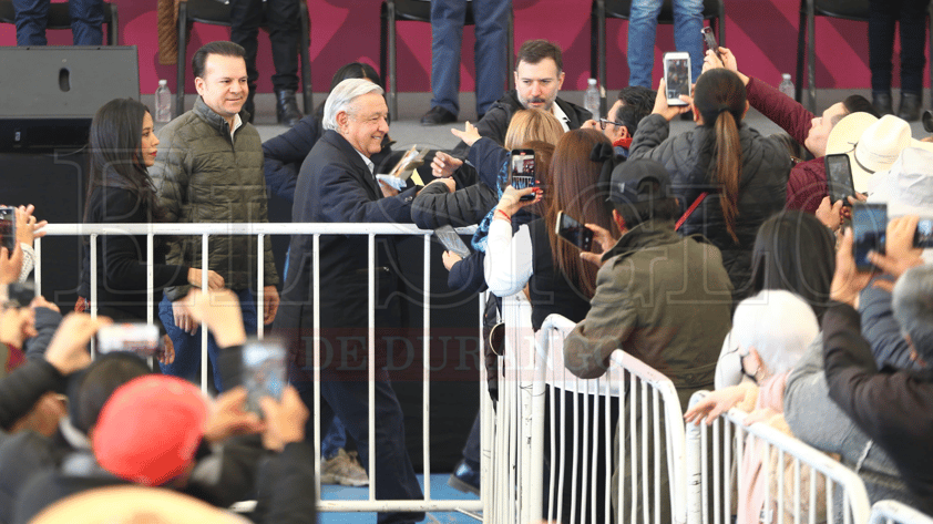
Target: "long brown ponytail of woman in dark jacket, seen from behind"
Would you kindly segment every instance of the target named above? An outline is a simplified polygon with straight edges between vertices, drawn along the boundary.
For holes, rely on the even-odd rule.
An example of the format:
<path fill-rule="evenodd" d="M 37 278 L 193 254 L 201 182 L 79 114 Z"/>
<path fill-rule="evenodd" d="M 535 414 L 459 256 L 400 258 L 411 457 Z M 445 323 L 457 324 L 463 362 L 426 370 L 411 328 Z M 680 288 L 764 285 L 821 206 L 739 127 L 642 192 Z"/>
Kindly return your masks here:
<path fill-rule="evenodd" d="M 739 122 L 745 115 L 746 101 L 745 84 L 736 73 L 727 69 L 709 70 L 697 80 L 694 104 L 703 115 L 704 125 L 712 127 L 716 133 L 709 175 L 710 179 L 721 186 L 719 205 L 722 208 L 726 229 L 736 244 L 739 242 L 736 235 L 736 217 L 742 166 Z"/>

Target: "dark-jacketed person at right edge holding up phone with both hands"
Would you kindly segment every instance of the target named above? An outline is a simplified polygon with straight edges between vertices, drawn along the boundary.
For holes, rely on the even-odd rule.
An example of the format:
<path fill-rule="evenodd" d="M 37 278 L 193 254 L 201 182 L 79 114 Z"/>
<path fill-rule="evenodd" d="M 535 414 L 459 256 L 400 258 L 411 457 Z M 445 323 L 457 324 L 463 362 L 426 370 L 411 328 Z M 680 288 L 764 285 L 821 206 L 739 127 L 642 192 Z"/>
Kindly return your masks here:
<path fill-rule="evenodd" d="M 892 219 L 885 255 L 872 253 L 869 259 L 898 279 L 894 318 L 922 369 L 879 370 L 855 310 L 872 275 L 855 268 L 851 229 L 837 255 L 832 298 L 838 304 L 823 316 L 823 359 L 832 400 L 888 452 L 919 499 L 919 510 L 933 514 L 933 265 L 924 265 L 913 248 L 916 223 L 916 216 Z"/>

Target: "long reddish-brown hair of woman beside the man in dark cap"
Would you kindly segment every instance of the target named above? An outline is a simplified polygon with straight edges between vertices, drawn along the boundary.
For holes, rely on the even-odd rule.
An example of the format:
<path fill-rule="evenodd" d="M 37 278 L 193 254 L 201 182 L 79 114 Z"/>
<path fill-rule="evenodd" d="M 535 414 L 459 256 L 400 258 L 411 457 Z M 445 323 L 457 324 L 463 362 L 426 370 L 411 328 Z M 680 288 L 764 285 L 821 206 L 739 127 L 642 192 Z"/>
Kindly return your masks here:
<path fill-rule="evenodd" d="M 607 195 L 599 188 L 603 164 L 589 160 L 593 146 L 601 142 L 608 144 L 609 140 L 595 130 L 574 130 L 561 136 L 551 161 L 551 204 L 544 213 L 554 267 L 589 298 L 596 292 L 598 268 L 581 259 L 578 249 L 560 240 L 554 224 L 563 210 L 582 224 L 597 224 L 618 236 L 612 208 L 605 202 Z"/>

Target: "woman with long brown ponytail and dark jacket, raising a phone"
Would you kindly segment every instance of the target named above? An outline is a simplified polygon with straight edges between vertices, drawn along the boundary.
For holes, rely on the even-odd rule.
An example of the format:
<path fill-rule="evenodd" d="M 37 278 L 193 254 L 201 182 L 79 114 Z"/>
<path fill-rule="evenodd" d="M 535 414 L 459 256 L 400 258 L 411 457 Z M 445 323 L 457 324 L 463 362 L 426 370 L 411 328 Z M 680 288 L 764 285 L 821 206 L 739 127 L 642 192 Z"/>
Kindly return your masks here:
<path fill-rule="evenodd" d="M 722 251 L 738 302 L 748 294 L 758 227 L 785 206 L 790 156 L 779 141 L 742 123 L 749 105 L 736 73 L 707 71 L 694 99 L 684 96 L 685 106 L 669 107 L 663 84 L 653 114 L 638 125 L 629 158 L 664 164 L 686 215 L 679 233 L 704 235 Z M 697 126 L 668 137 L 670 119 L 687 109 Z"/>

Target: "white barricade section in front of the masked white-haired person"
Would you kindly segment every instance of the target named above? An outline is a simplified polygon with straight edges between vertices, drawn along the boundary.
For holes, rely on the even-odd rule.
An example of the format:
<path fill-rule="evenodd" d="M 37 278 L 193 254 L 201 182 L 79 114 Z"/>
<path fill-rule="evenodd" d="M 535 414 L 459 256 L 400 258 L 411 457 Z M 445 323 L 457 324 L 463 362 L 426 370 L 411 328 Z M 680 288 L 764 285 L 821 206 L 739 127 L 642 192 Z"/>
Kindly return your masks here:
<path fill-rule="evenodd" d="M 690 399 L 690 405 L 707 394 L 707 391 L 697 392 Z M 746 415 L 732 409 L 714 421 L 711 431 L 706 424 L 687 425 L 689 524 L 732 522 L 739 499 L 749 500 L 752 480 L 745 479 L 742 473 L 748 453 L 763 459 L 758 473 L 765 496 L 760 522 L 868 522 L 869 499 L 855 472 L 765 423 L 745 425 Z M 711 472 L 708 464 L 711 464 Z M 824 493 L 818 495 L 819 491 Z M 746 518 L 739 515 L 738 522 L 746 522 Z"/>

